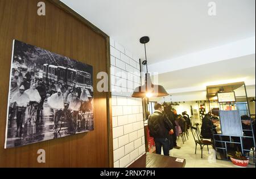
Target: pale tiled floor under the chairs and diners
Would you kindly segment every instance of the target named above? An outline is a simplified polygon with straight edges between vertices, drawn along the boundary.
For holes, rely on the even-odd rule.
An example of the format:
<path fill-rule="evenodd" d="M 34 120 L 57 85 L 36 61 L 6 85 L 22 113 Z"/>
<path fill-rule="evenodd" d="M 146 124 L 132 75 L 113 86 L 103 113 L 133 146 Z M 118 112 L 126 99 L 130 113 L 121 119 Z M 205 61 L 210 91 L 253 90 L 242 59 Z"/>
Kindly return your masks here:
<path fill-rule="evenodd" d="M 200 146 L 197 145 L 197 153 L 195 154 L 195 142 L 193 140 L 192 134 L 189 133 L 189 137 L 187 142 L 182 143 L 181 138 L 177 139 L 177 144 L 181 148 L 173 149 L 170 151 L 170 155 L 174 157 L 180 157 L 186 160 L 186 168 L 230 168 L 230 167 L 236 167 L 232 164 L 231 161 L 225 161 L 225 160 L 215 160 L 215 157 L 213 157 L 213 154 L 208 154 L 207 146 L 204 147 L 203 150 L 203 159 L 201 159 L 201 150 Z M 210 151 L 212 150 L 212 147 L 209 147 Z M 210 152 L 211 153 L 211 152 Z M 253 163 L 251 161 L 251 163 Z M 255 165 L 250 165 L 248 168 L 255 168 Z"/>

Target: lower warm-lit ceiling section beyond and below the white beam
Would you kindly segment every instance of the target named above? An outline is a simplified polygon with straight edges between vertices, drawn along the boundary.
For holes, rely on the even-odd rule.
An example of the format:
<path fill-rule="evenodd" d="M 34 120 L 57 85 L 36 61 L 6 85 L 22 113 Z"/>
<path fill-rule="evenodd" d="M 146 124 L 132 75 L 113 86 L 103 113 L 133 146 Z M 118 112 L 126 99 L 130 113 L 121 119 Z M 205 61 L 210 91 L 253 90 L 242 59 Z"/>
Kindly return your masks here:
<path fill-rule="evenodd" d="M 159 74 L 158 80 L 166 89 L 173 89 L 172 92 L 187 87 L 197 87 L 195 90 L 199 91 L 209 85 L 237 81 L 255 84 L 255 54 Z"/>

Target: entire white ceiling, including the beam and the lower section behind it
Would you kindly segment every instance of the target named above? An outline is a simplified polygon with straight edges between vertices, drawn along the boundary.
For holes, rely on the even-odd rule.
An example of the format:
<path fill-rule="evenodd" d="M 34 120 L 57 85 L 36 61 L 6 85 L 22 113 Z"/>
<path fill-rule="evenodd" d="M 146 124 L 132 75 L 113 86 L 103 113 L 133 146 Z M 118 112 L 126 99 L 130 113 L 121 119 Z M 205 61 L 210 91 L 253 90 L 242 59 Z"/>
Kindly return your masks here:
<path fill-rule="evenodd" d="M 240 81 L 255 89 L 255 0 L 214 0 L 216 16 L 209 0 L 61 1 L 139 58 L 149 36 L 148 69 L 171 94 L 192 100 L 207 85 Z"/>

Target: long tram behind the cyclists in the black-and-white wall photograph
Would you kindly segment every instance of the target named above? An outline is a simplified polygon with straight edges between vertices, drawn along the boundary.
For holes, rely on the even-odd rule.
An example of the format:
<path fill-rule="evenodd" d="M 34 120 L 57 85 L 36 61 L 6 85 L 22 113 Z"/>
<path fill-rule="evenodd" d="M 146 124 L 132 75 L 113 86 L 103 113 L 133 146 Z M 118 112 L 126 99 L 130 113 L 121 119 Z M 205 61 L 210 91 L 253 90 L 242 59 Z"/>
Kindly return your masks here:
<path fill-rule="evenodd" d="M 68 86 L 86 88 L 93 95 L 91 75 L 84 71 L 56 65 L 43 65 L 43 79 L 45 81 L 67 83 Z M 89 94 L 88 94 L 89 95 Z"/>

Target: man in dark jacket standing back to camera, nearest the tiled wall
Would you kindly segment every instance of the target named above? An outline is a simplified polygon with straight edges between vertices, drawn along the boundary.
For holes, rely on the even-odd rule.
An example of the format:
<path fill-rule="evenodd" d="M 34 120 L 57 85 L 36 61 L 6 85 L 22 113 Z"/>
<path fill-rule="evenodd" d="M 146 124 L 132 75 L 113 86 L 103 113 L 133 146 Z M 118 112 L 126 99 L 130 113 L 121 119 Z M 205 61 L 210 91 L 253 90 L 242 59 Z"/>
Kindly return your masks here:
<path fill-rule="evenodd" d="M 166 114 L 163 113 L 161 104 L 155 104 L 154 109 L 155 112 L 148 118 L 150 137 L 153 137 L 155 140 L 156 154 L 161 154 L 161 148 L 163 146 L 164 155 L 170 156 L 169 131 L 173 125 Z"/>

